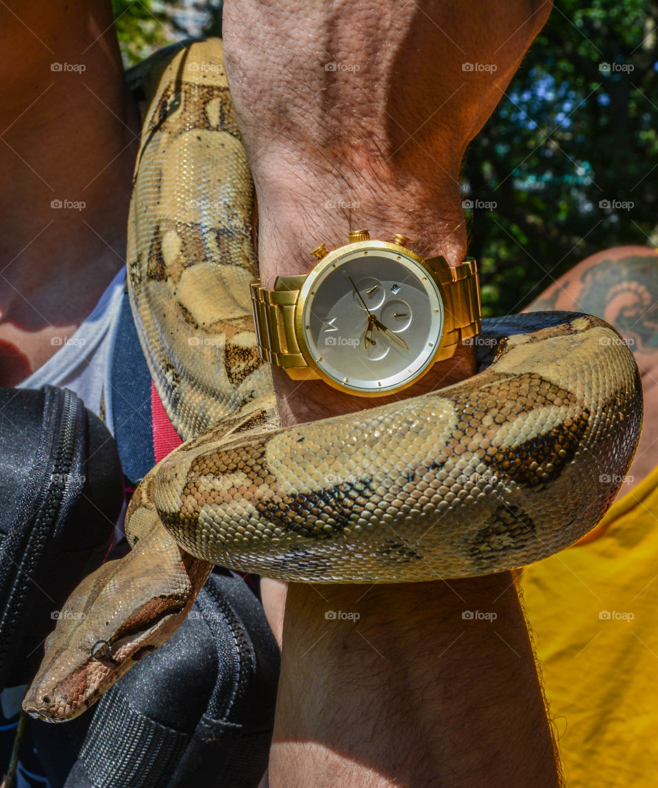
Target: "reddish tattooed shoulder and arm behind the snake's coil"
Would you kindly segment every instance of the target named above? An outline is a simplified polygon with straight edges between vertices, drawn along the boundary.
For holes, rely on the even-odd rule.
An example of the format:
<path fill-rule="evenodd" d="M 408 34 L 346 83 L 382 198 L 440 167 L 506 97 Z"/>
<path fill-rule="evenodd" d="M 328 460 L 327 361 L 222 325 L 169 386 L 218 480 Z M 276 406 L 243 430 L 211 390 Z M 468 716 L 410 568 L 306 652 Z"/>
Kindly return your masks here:
<path fill-rule="evenodd" d="M 658 253 L 626 246 L 579 262 L 526 307 L 528 312 L 574 310 L 596 314 L 628 341 L 640 367 L 645 424 L 630 466 L 628 492 L 658 465 Z"/>

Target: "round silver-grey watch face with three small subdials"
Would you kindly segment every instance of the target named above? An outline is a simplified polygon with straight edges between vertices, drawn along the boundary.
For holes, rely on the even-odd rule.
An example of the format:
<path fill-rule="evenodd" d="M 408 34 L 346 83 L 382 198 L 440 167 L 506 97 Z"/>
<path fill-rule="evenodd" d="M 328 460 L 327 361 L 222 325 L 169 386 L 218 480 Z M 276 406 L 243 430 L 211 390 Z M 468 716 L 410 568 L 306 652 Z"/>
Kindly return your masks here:
<path fill-rule="evenodd" d="M 328 383 L 370 396 L 422 375 L 444 325 L 441 293 L 426 267 L 380 243 L 328 255 L 300 294 L 307 361 Z"/>

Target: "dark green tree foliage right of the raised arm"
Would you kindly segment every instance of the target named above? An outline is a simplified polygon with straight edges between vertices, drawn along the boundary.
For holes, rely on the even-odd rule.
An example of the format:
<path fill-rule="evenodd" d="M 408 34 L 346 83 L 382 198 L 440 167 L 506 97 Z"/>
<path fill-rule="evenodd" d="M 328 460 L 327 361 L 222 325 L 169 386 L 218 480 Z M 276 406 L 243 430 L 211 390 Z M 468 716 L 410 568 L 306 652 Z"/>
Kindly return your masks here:
<path fill-rule="evenodd" d="M 658 241 L 658 4 L 558 0 L 463 170 L 485 314 L 579 260 Z M 491 208 L 487 203 L 496 203 Z"/>

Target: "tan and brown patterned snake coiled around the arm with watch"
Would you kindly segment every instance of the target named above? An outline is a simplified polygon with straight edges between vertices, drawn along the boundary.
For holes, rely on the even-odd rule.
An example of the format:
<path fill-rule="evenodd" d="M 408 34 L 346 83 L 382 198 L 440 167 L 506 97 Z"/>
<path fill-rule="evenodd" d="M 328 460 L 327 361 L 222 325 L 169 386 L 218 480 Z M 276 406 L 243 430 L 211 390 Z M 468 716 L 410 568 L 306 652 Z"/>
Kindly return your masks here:
<path fill-rule="evenodd" d="M 62 608 L 24 700 L 73 719 L 162 645 L 214 564 L 292 582 L 419 582 L 532 563 L 604 515 L 638 444 L 638 367 L 600 318 L 488 318 L 446 388 L 282 428 L 251 315 L 254 185 L 220 39 L 128 72 L 143 111 L 128 288 L 183 443 L 128 505 L 131 550 Z"/>

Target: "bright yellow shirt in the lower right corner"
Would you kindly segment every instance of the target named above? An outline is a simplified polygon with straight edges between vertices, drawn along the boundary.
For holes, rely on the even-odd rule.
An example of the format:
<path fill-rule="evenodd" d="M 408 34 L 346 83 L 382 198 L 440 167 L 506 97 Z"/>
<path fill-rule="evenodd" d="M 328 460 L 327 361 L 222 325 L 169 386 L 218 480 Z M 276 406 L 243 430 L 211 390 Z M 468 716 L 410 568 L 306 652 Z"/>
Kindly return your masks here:
<path fill-rule="evenodd" d="M 658 786 L 658 468 L 521 585 L 567 786 Z"/>

